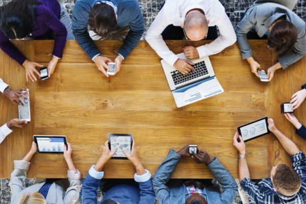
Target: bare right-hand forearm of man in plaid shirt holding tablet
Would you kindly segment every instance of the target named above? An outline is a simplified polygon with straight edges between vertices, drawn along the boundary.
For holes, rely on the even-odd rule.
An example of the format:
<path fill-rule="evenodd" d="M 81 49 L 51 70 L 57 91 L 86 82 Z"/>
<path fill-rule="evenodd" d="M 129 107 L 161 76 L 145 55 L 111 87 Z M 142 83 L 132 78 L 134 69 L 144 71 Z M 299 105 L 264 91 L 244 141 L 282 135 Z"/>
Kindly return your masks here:
<path fill-rule="evenodd" d="M 276 128 L 272 118 L 268 119 L 268 128 L 276 136 L 278 141 L 282 144 L 282 146 L 290 156 L 295 155 L 300 151 L 292 140 L 290 140 Z"/>

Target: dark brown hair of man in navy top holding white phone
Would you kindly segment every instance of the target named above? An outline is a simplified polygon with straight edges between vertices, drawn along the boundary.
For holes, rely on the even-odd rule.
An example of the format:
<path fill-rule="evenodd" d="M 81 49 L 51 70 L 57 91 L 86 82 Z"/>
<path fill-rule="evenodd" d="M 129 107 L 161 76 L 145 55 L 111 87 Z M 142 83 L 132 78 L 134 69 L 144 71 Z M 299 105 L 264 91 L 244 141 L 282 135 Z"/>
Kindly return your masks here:
<path fill-rule="evenodd" d="M 109 36 L 117 28 L 117 19 L 113 7 L 105 3 L 94 5 L 89 12 L 88 24 L 90 30 L 99 36 Z"/>

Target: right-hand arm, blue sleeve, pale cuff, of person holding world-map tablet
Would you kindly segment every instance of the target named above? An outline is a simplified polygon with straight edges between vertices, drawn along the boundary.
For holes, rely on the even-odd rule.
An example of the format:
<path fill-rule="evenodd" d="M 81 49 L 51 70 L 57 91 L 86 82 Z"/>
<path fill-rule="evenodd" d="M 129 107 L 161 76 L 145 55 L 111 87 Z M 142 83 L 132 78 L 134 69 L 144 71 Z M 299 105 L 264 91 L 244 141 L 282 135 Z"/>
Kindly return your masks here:
<path fill-rule="evenodd" d="M 151 174 L 146 170 L 138 157 L 135 141 L 133 140 L 131 152 L 126 152 L 123 149 L 123 154 L 131 163 L 135 166 L 136 173 L 134 174 L 134 180 L 139 184 L 140 189 L 140 204 L 151 204 L 155 202 L 155 193 L 151 182 Z"/>

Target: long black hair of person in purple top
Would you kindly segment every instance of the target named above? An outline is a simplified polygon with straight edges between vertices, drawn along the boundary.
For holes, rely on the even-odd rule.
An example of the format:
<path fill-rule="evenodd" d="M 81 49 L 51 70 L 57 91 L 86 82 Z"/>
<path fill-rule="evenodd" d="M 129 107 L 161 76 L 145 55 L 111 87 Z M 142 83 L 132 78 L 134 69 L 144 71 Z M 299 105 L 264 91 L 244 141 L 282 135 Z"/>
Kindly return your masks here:
<path fill-rule="evenodd" d="M 0 27 L 10 39 L 28 36 L 35 22 L 37 0 L 13 0 L 0 7 Z"/>

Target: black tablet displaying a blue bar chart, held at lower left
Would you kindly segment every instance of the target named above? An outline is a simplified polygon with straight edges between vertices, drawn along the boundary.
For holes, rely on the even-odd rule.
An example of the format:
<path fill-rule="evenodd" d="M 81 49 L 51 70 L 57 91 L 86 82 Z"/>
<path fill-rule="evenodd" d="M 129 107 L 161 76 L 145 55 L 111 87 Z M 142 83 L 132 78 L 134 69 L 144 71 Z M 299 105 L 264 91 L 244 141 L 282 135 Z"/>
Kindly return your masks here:
<path fill-rule="evenodd" d="M 33 139 L 40 153 L 63 153 L 64 144 L 67 146 L 64 135 L 33 135 Z"/>

